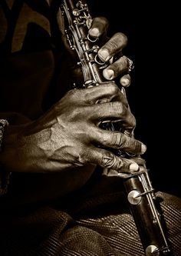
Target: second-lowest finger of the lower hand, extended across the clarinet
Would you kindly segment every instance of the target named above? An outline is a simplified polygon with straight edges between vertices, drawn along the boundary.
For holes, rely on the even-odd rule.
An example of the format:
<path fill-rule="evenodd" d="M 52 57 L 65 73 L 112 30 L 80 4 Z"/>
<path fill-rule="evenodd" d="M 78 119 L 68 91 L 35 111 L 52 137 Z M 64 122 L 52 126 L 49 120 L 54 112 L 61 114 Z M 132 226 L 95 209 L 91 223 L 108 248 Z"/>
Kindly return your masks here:
<path fill-rule="evenodd" d="M 94 128 L 94 131 L 91 131 L 91 139 L 97 145 L 120 149 L 136 155 L 142 155 L 146 151 L 146 145 L 141 141 L 124 135 L 119 131 L 106 131 L 101 128 Z"/>

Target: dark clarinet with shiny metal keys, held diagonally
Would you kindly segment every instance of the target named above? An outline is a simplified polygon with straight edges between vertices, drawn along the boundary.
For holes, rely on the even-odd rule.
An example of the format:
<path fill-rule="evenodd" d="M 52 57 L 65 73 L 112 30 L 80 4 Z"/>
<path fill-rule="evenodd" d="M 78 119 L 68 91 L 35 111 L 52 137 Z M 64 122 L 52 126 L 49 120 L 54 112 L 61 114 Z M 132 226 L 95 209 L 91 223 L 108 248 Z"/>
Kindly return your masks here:
<path fill-rule="evenodd" d="M 102 69 L 107 63 L 98 58 L 97 38 L 88 35 L 92 18 L 87 3 L 85 0 L 63 0 L 60 11 L 64 21 L 64 34 L 67 35 L 70 48 L 77 52 L 77 65 L 81 66 L 84 75 L 81 88 L 100 85 L 105 81 Z M 74 84 L 74 88 L 77 88 L 76 86 Z M 103 123 L 101 128 L 121 131 L 117 130 L 115 123 L 111 121 Z M 122 157 L 130 157 L 127 152 L 117 150 L 116 153 Z M 160 204 L 156 201 L 146 166 L 133 175 L 123 176 L 123 186 L 145 255 L 173 255 Z"/>

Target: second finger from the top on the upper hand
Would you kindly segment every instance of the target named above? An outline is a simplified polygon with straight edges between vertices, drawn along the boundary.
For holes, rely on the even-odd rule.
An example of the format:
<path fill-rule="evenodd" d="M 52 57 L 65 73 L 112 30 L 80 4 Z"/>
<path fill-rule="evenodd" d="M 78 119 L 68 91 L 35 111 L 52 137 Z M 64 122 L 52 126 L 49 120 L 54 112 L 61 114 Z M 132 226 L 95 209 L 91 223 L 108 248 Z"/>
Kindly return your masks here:
<path fill-rule="evenodd" d="M 118 52 L 121 52 L 127 45 L 127 36 L 123 33 L 116 33 L 98 51 L 98 56 L 103 62 L 108 62 Z"/>

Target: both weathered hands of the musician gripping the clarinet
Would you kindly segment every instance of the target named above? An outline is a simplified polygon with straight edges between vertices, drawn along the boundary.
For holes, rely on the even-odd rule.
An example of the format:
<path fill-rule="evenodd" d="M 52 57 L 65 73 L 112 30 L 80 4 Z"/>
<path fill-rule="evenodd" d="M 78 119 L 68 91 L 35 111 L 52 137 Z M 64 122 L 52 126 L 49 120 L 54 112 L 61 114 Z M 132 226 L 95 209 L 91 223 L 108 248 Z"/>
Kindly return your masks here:
<path fill-rule="evenodd" d="M 102 37 L 107 27 L 107 19 L 94 18 L 89 34 Z M 68 91 L 38 120 L 18 131 L 9 128 L 1 155 L 8 170 L 55 172 L 84 165 L 100 165 L 115 171 L 139 169 L 136 161 L 117 157 L 110 148 L 140 155 L 146 146 L 120 131 L 106 131 L 99 126 L 101 121 L 114 118 L 121 121 L 126 133 L 135 128 L 126 95 L 112 81 L 127 73 L 120 83 L 130 85 L 130 63 L 122 55 L 126 45 L 126 35 L 117 33 L 100 48 L 98 56 L 104 62 L 121 53 L 120 58 L 104 69 L 107 81 L 102 85 Z M 11 157 L 16 161 L 9 161 Z"/>

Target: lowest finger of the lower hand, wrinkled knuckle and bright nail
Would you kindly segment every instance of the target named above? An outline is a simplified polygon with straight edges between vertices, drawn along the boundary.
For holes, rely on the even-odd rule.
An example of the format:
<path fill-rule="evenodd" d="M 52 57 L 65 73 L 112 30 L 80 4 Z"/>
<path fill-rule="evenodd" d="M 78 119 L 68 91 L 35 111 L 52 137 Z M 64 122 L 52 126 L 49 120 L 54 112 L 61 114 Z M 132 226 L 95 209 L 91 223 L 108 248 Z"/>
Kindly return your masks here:
<path fill-rule="evenodd" d="M 89 152 L 89 161 L 103 168 L 114 169 L 117 171 L 138 171 L 139 165 L 133 160 L 120 158 L 114 153 L 102 148 L 91 148 Z"/>

